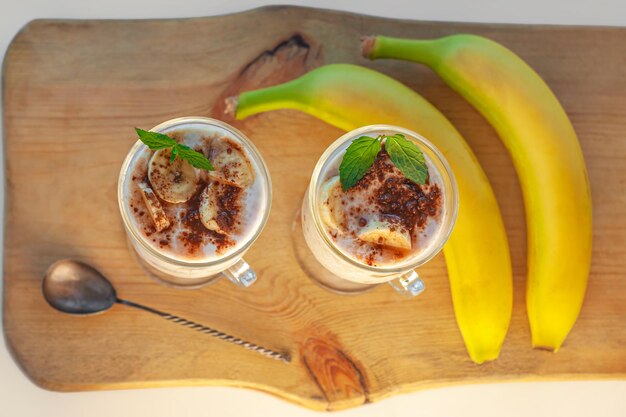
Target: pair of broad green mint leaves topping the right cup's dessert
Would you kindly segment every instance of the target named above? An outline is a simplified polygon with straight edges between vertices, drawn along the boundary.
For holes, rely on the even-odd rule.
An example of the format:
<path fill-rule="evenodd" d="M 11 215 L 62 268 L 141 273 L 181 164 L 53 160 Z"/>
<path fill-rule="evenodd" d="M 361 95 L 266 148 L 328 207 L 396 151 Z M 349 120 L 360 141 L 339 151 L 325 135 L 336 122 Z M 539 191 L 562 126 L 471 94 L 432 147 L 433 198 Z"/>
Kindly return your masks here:
<path fill-rule="evenodd" d="M 348 146 L 339 165 L 339 180 L 344 191 L 356 185 L 371 168 L 382 149 L 383 140 L 389 159 L 402 175 L 416 184 L 426 182 L 428 167 L 424 154 L 404 135 L 397 133 L 391 136 L 380 135 L 376 138 L 361 136 Z"/>

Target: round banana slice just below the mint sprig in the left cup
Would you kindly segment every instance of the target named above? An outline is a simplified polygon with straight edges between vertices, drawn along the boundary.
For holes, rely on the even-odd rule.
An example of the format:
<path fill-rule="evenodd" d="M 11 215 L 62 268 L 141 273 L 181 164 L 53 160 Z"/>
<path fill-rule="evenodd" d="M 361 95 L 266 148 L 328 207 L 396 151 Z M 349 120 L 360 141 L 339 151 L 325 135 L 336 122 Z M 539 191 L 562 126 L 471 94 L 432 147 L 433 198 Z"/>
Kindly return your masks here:
<path fill-rule="evenodd" d="M 188 201 L 198 188 L 196 170 L 189 162 L 176 158 L 170 162 L 171 149 L 159 149 L 150 158 L 148 178 L 154 192 L 170 203 Z"/>

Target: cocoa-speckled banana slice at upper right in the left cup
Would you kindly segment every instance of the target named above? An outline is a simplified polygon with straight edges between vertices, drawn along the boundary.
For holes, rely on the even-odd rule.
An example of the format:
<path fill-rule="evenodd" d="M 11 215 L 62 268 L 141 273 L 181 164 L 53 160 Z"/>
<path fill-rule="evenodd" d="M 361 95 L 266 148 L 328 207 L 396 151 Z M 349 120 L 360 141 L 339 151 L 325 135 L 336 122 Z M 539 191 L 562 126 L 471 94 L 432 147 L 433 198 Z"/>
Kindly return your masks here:
<path fill-rule="evenodd" d="M 246 188 L 254 182 L 254 171 L 241 146 L 229 139 L 219 139 L 211 144 L 211 163 L 215 168 L 210 175 L 218 181 Z"/>

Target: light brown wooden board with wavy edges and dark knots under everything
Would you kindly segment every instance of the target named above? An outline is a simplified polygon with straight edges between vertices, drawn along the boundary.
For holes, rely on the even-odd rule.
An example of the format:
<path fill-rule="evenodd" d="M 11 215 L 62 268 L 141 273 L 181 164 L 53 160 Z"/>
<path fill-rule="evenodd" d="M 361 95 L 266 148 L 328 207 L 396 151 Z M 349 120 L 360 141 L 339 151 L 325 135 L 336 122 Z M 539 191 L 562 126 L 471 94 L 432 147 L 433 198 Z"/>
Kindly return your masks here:
<path fill-rule="evenodd" d="M 488 36 L 527 60 L 580 135 L 593 192 L 594 256 L 582 314 L 558 354 L 530 347 L 524 210 L 502 144 L 431 71 L 367 62 L 359 53 L 364 34 L 457 32 Z M 255 286 L 241 290 L 222 280 L 196 291 L 169 289 L 148 279 L 129 253 L 116 182 L 135 140 L 132 127 L 187 115 L 223 118 L 224 97 L 334 62 L 375 68 L 422 93 L 483 164 L 515 272 L 513 320 L 497 361 L 469 360 L 441 255 L 421 268 L 427 291 L 413 300 L 388 286 L 341 297 L 307 278 L 295 258 L 292 221 L 317 158 L 342 132 L 302 113 L 235 123 L 259 147 L 274 184 L 269 224 L 246 256 L 260 275 Z M 52 390 L 230 385 L 328 410 L 449 384 L 624 378 L 625 68 L 626 29 L 617 28 L 426 23 L 294 7 L 198 19 L 31 22 L 11 44 L 3 74 L 9 347 L 33 382 Z M 293 362 L 124 306 L 63 315 L 46 304 L 40 287 L 48 265 L 65 257 L 102 270 L 122 298 L 288 351 Z"/>

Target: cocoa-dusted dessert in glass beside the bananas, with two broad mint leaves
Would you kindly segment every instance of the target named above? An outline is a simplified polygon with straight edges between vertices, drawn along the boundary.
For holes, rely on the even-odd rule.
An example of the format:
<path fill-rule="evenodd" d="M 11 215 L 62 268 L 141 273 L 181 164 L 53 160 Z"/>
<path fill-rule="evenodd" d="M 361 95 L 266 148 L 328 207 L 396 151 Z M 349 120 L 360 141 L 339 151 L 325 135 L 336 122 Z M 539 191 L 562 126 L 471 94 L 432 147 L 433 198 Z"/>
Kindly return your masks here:
<path fill-rule="evenodd" d="M 418 279 L 413 269 L 441 250 L 457 204 L 450 168 L 426 139 L 387 125 L 349 132 L 320 158 L 302 207 L 307 245 L 332 272 L 314 278 L 337 291 Z"/>

